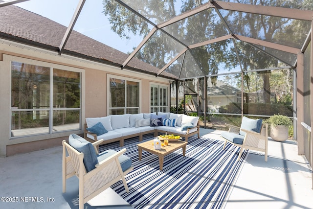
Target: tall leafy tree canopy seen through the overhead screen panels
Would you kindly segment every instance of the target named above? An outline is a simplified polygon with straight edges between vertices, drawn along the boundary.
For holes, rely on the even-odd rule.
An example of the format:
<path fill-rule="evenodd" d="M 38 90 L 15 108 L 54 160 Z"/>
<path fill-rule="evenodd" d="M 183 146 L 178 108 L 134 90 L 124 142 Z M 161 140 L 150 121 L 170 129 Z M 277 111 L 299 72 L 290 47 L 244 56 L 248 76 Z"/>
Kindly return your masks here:
<path fill-rule="evenodd" d="M 313 0 L 238 0 L 238 2 L 313 9 Z M 177 8 L 175 8 L 176 3 L 176 0 L 147 0 L 145 4 L 135 4 L 132 5 L 132 7 L 147 19 L 158 24 L 177 16 L 178 11 Z M 131 33 L 134 35 L 139 34 L 142 37 L 149 33 L 149 23 L 145 22 L 116 1 L 103 0 L 103 4 L 103 13 L 109 17 L 112 30 L 120 37 L 130 39 Z M 189 11 L 201 4 L 201 0 L 182 0 L 180 12 Z M 304 21 L 235 11 L 223 10 L 222 16 L 230 27 L 231 32 L 234 34 L 285 44 L 287 46 L 298 46 L 300 40 L 303 40 L 303 38 L 307 36 L 306 33 L 311 26 L 311 23 Z M 282 25 L 284 25 L 284 27 L 282 27 Z M 230 31 L 226 29 L 223 21 L 217 20 L 216 10 L 213 8 L 169 25 L 166 29 L 164 28 L 164 30 L 166 30 L 168 34 L 177 37 L 182 42 L 192 41 L 193 43 L 199 43 L 210 38 L 220 37 L 222 34 L 230 33 Z M 280 40 L 287 40 L 287 42 L 281 43 Z M 188 45 L 189 43 L 186 44 Z M 179 53 L 179 45 L 178 42 L 173 41 L 166 33 L 157 31 L 140 49 L 136 57 L 153 66 L 162 68 L 171 57 Z M 268 54 L 262 52 L 262 50 L 265 51 L 265 48 L 244 42 L 233 42 L 232 40 L 225 40 L 190 49 L 188 52 L 191 54 L 191 58 L 196 61 L 196 66 L 191 66 L 186 70 L 186 77 L 188 74 L 193 75 L 192 73 L 196 69 L 200 69 L 203 75 L 218 74 L 222 65 L 226 70 L 233 70 L 235 66 L 238 65 L 238 58 L 243 70 L 268 69 L 280 65 L 277 59 L 268 56 Z M 238 55 L 236 51 L 238 51 Z M 276 54 L 273 55 L 276 56 Z M 179 59 L 175 65 L 181 66 L 182 60 L 183 59 Z M 290 65 L 293 63 L 286 64 Z M 177 75 L 177 69 L 180 68 L 175 68 L 175 65 L 169 67 L 167 71 Z M 270 103 L 270 71 L 263 71 L 259 74 L 263 82 L 263 100 L 266 103 Z M 244 79 L 249 90 L 251 88 L 250 84 L 253 82 L 248 75 L 244 75 Z M 212 81 L 214 81 L 214 79 L 212 79 Z"/>

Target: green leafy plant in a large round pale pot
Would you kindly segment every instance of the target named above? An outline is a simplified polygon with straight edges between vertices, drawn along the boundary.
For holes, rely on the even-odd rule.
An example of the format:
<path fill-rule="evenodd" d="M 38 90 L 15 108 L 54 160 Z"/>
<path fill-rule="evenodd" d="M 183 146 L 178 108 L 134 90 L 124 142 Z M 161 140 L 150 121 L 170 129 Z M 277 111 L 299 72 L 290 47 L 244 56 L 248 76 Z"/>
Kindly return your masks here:
<path fill-rule="evenodd" d="M 292 126 L 292 120 L 288 116 L 273 115 L 265 123 L 270 125 L 269 135 L 276 141 L 285 141 L 288 139 L 289 128 Z"/>

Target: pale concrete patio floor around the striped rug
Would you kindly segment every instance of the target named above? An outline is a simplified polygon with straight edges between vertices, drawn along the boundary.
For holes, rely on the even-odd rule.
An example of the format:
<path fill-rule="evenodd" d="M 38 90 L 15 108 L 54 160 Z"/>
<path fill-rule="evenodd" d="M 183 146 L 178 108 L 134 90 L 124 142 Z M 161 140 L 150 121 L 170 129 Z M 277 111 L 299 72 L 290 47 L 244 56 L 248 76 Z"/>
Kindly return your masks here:
<path fill-rule="evenodd" d="M 201 136 L 212 139 L 220 139 L 220 133 L 202 128 L 200 132 Z M 77 208 L 77 202 L 72 199 L 78 194 L 78 179 L 68 179 L 67 192 L 62 193 L 61 174 L 62 146 L 0 158 L 0 209 Z M 132 208 L 114 194 L 107 191 L 93 202 L 105 204 L 114 200 L 119 205 L 101 208 Z M 107 195 L 112 196 L 107 198 Z M 312 209 L 312 170 L 297 155 L 296 142 L 269 139 L 268 162 L 262 153 L 250 151 L 224 207 Z"/>

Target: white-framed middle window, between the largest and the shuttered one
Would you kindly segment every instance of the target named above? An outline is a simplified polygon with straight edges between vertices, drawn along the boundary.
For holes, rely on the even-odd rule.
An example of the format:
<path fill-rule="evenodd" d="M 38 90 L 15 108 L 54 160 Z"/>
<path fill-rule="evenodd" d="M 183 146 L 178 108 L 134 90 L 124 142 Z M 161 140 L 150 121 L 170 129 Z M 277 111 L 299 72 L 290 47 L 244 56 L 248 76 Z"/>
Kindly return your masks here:
<path fill-rule="evenodd" d="M 108 76 L 110 115 L 139 113 L 140 81 L 115 75 Z"/>

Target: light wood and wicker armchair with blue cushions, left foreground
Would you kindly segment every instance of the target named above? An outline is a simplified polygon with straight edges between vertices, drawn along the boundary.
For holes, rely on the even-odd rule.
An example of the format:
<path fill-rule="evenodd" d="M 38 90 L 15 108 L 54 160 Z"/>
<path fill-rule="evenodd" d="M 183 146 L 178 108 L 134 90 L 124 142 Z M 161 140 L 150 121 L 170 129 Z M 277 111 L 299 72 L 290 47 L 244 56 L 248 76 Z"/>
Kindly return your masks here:
<path fill-rule="evenodd" d="M 75 139 L 77 139 L 77 142 Z M 73 140 L 74 142 L 71 143 Z M 63 141 L 63 192 L 66 192 L 66 180 L 76 175 L 79 179 L 80 209 L 83 209 L 84 204 L 90 199 L 119 180 L 123 181 L 126 192 L 129 191 L 125 175 L 133 170 L 133 166 L 130 159 L 123 155 L 126 149 L 122 149 L 118 152 L 107 150 L 99 154 L 96 146 L 101 143 L 102 140 L 103 139 L 90 143 L 78 135 L 71 134 L 69 136 L 69 143 L 74 144 L 73 146 L 76 146 L 75 148 L 68 144 L 66 140 Z M 81 145 L 84 146 L 83 152 L 77 151 L 77 149 L 80 150 Z M 68 156 L 66 156 L 66 151 Z M 96 157 L 96 159 L 94 157 Z"/>

